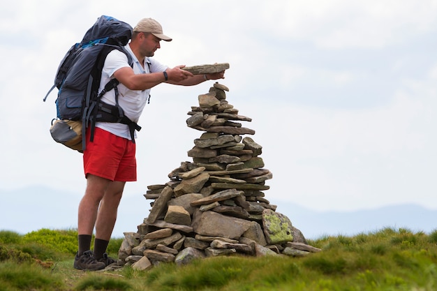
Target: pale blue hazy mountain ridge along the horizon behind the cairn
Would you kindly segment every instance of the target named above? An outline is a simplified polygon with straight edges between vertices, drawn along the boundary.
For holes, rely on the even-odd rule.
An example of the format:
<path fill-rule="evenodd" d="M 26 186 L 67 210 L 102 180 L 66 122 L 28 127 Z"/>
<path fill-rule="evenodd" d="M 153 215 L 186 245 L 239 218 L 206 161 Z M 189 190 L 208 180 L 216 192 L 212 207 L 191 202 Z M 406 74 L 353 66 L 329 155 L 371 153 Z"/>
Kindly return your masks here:
<path fill-rule="evenodd" d="M 125 195 L 121 200 L 113 237 L 136 232 L 149 214 L 149 200 L 142 195 Z M 40 228 L 68 229 L 77 226 L 77 206 L 81 193 L 59 191 L 45 186 L 17 190 L 0 189 L 0 230 L 25 234 Z M 292 202 L 270 201 L 276 211 L 288 216 L 307 239 L 323 235 L 353 236 L 384 227 L 406 228 L 414 232 L 437 230 L 437 210 L 415 204 L 400 204 L 359 211 L 313 211 Z"/>

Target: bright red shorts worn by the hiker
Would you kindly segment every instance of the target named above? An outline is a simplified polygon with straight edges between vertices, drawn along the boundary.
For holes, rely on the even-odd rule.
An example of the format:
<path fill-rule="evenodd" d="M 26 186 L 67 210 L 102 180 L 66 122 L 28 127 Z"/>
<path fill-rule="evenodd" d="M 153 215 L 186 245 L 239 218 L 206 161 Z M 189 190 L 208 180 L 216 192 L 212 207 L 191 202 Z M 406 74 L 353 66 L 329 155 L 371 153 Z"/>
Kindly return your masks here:
<path fill-rule="evenodd" d="M 94 174 L 111 181 L 137 181 L 135 144 L 131 140 L 114 135 L 96 127 L 94 141 L 89 141 L 84 150 L 84 173 Z"/>

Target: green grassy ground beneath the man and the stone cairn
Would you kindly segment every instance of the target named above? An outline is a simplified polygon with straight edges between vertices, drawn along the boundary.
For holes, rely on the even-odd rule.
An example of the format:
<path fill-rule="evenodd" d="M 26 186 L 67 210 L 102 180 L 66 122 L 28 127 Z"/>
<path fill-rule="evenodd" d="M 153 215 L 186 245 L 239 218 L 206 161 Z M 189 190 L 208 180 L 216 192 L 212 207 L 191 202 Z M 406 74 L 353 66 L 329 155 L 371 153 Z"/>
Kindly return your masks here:
<path fill-rule="evenodd" d="M 112 239 L 117 256 L 122 239 Z M 75 230 L 0 231 L 0 291 L 374 291 L 437 290 L 437 230 L 430 234 L 384 228 L 353 237 L 320 237 L 322 248 L 303 258 L 207 258 L 149 271 L 73 269 Z M 73 248 L 74 245 L 74 248 Z"/>

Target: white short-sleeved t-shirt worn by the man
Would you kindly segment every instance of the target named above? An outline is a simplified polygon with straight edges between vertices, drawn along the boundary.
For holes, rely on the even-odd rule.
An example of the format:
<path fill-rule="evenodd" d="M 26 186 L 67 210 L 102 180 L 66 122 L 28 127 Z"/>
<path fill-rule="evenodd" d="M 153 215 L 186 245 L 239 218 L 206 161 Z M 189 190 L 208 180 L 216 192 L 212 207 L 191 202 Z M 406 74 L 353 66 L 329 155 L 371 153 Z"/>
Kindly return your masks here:
<path fill-rule="evenodd" d="M 164 66 L 158 61 L 152 58 L 145 58 L 144 68 L 140 65 L 137 57 L 133 54 L 131 47 L 126 45 L 126 50 L 129 54 L 131 54 L 133 59 L 133 72 L 135 74 L 148 74 L 148 73 L 156 73 L 165 71 L 168 66 Z M 147 64 L 149 63 L 149 64 Z M 149 67 L 150 66 L 150 67 Z M 130 67 L 128 64 L 128 58 L 124 52 L 120 52 L 119 50 L 112 50 L 105 59 L 105 64 L 103 65 L 102 77 L 100 82 L 100 87 L 98 91 L 102 91 L 105 87 L 105 84 L 108 83 L 114 77 L 114 73 L 120 68 Z M 150 70 L 149 70 L 150 68 Z M 140 119 L 142 110 L 144 109 L 147 100 L 150 95 L 150 89 L 146 90 L 131 90 L 128 89 L 124 84 L 119 84 L 119 105 L 124 110 L 124 114 L 126 117 L 131 119 L 134 122 L 138 123 Z M 115 105 L 115 94 L 114 89 L 107 92 L 102 96 L 101 100 L 103 102 L 108 103 L 110 105 Z M 119 137 L 127 138 L 131 140 L 131 133 L 129 133 L 129 128 L 126 124 L 118 124 L 118 123 L 110 123 L 110 122 L 97 122 L 96 126 L 98 128 L 102 128 L 104 130 L 113 133 L 114 135 L 118 135 Z M 136 133 L 135 133 L 136 137 Z"/>

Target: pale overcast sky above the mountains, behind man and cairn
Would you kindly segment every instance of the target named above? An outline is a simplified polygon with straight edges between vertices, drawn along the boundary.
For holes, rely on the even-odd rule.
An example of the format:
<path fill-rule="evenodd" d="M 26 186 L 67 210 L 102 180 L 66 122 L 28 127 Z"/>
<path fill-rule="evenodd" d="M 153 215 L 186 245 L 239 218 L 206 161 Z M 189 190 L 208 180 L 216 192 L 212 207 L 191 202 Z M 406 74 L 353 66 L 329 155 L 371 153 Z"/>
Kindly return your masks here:
<path fill-rule="evenodd" d="M 433 0 L 2 2 L 0 190 L 43 186 L 59 192 L 53 200 L 82 197 L 81 154 L 49 133 L 57 90 L 43 97 L 68 48 L 100 15 L 132 27 L 158 20 L 173 40 L 161 42 L 155 58 L 170 67 L 230 64 L 220 82 L 229 103 L 252 119 L 244 126 L 255 130 L 273 173 L 266 198 L 277 211 L 281 202 L 311 211 L 437 209 Z M 147 186 L 191 161 L 187 151 L 201 132 L 186 126 L 187 112 L 213 83 L 152 89 L 139 122 L 138 181 L 126 185 L 132 204 L 124 207 L 144 207 L 147 216 Z M 2 207 L 8 203 L 2 195 Z"/>

